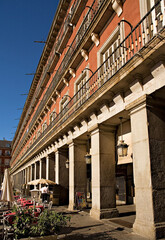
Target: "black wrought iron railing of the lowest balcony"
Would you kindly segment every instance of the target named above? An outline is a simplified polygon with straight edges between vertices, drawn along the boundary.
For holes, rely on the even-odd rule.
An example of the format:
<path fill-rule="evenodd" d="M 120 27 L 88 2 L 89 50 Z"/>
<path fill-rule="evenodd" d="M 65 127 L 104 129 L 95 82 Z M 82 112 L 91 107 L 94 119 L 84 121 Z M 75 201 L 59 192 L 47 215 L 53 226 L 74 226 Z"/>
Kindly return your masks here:
<path fill-rule="evenodd" d="M 155 35 L 159 34 L 159 31 L 164 28 L 165 16 L 164 12 L 159 12 L 158 16 L 155 17 L 156 9 L 160 0 L 151 10 L 141 19 L 141 21 L 131 30 L 127 37 L 120 42 L 118 47 L 111 53 L 111 55 L 101 64 L 101 66 L 92 74 L 88 81 L 80 88 L 80 90 L 73 96 L 68 102 L 65 108 L 56 116 L 54 121 L 46 128 L 46 130 L 36 139 L 28 151 L 24 154 L 23 158 L 26 157 L 31 149 L 37 144 L 44 142 L 41 140 L 43 136 L 49 137 L 73 114 L 75 114 L 79 108 L 88 101 L 101 87 L 122 69 L 135 54 L 140 54 L 140 50 L 146 48 L 147 44 L 154 38 Z M 161 40 L 160 40 L 161 41 Z M 148 48 L 150 51 L 150 48 Z M 113 59 L 113 61 L 112 61 Z M 53 81 L 50 88 L 55 87 L 56 81 Z M 50 91 L 48 88 L 48 92 Z M 82 91 L 86 89 L 86 91 Z M 48 99 L 45 95 L 43 103 Z M 38 113 L 36 113 L 38 115 Z M 52 130 L 51 130 L 52 129 Z M 23 159 L 22 158 L 22 159 Z"/>

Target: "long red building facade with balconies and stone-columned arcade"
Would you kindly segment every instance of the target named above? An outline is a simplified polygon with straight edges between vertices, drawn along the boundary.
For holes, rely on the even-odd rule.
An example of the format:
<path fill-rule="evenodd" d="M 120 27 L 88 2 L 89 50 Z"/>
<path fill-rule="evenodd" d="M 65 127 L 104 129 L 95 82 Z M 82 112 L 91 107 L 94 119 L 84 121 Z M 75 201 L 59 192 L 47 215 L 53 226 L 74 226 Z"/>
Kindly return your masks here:
<path fill-rule="evenodd" d="M 164 235 L 164 25 L 163 0 L 59 1 L 12 144 L 17 188 L 56 181 L 98 219 L 134 203 L 134 231 Z"/>

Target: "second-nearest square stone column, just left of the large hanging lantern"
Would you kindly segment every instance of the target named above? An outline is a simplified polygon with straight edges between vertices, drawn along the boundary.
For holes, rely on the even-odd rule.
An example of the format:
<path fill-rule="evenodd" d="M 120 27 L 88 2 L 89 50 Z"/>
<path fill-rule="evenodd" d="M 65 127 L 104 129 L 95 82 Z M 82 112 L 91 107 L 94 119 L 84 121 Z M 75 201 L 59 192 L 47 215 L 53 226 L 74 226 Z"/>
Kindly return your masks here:
<path fill-rule="evenodd" d="M 115 129 L 100 126 L 91 132 L 92 209 L 96 219 L 117 217 Z"/>

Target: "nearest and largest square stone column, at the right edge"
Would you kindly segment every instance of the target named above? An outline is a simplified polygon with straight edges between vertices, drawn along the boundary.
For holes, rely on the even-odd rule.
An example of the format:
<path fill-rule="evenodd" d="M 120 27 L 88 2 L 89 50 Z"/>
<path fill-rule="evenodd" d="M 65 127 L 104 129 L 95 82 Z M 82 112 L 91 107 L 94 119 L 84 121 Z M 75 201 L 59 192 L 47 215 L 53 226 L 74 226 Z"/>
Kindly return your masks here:
<path fill-rule="evenodd" d="M 133 229 L 147 239 L 165 235 L 165 108 L 141 97 L 130 110 L 136 220 Z"/>

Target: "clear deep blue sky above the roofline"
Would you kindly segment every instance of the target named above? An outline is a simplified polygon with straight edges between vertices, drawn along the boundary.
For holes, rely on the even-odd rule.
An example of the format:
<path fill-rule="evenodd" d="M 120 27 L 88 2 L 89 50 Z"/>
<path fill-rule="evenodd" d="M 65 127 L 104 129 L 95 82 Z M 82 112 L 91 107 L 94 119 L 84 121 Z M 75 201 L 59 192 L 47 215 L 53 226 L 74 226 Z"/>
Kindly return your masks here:
<path fill-rule="evenodd" d="M 0 0 L 0 140 L 11 140 L 59 0 Z"/>

